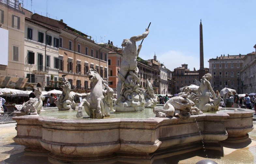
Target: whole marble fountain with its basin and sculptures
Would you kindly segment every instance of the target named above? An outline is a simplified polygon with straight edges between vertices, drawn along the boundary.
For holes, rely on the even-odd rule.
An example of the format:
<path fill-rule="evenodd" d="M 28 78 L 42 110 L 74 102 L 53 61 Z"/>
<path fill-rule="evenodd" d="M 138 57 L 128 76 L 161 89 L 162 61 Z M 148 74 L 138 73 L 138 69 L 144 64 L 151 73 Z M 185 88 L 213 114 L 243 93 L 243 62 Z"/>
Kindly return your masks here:
<path fill-rule="evenodd" d="M 124 51 L 128 51 L 126 48 L 129 44 L 135 46 L 135 41 L 147 34 L 148 29 L 141 36 L 124 40 Z M 152 163 L 155 159 L 202 149 L 202 141 L 205 150 L 221 152 L 221 142 L 249 140 L 248 132 L 253 129 L 253 111 L 230 108 L 216 113 L 202 113 L 217 109 L 218 97 L 214 100 L 209 98 L 209 92 L 212 92 L 209 74 L 203 76 L 197 95 L 185 90 L 180 96 L 169 99 L 163 107 L 150 109 L 147 117 L 130 117 L 132 114 L 138 115 L 136 111 L 144 110 L 146 102 L 152 102 L 156 97 L 151 97 L 149 84 L 146 91 L 148 96 L 144 96 L 143 89 L 136 83 L 137 65 L 134 68 L 130 65 L 125 69 L 128 75 L 123 75 L 126 60 L 124 57 L 119 74 L 119 95 L 114 106 L 116 112 L 110 115 L 107 106 L 110 99 L 106 96 L 108 92 L 113 94 L 112 90 L 96 70 L 90 69 L 87 75 L 97 85 L 92 88 L 90 96 L 82 100 L 76 115 L 80 119 L 47 117 L 43 113 L 13 117 L 17 122 L 17 136 L 13 140 L 25 145 L 26 151 L 47 153 L 48 160 L 56 164 Z M 120 89 L 122 84 L 123 88 Z M 106 90 L 102 90 L 102 87 Z M 155 105 L 153 102 L 150 107 Z M 83 107 L 90 118 L 81 118 Z M 125 111 L 121 118 L 118 111 Z M 74 115 L 72 111 L 60 112 Z M 104 119 L 99 119 L 102 117 Z"/>

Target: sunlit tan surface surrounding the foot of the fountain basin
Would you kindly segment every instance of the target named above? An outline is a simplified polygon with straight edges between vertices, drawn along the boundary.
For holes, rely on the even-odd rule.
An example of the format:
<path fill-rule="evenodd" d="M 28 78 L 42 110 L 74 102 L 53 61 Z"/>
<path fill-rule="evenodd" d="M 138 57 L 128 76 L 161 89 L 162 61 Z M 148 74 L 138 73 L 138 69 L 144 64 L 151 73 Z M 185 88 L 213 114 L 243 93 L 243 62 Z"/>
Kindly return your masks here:
<path fill-rule="evenodd" d="M 47 155 L 24 152 L 25 146 L 16 144 L 12 138 L 16 136 L 16 123 L 0 125 L 0 163 L 1 164 L 51 164 Z M 254 127 L 256 121 L 253 122 Z M 203 152 L 191 152 L 186 155 L 178 155 L 164 159 L 155 160 L 153 164 L 195 164 L 201 159 L 213 159 L 218 164 L 252 164 L 256 163 L 256 129 L 249 133 L 250 141 L 243 144 L 222 144 L 224 157 L 219 157 L 206 150 Z M 202 155 L 198 156 L 199 154 Z M 115 164 L 121 164 L 117 162 Z M 122 163 L 125 164 L 125 163 Z M 126 163 L 128 164 L 128 163 Z"/>

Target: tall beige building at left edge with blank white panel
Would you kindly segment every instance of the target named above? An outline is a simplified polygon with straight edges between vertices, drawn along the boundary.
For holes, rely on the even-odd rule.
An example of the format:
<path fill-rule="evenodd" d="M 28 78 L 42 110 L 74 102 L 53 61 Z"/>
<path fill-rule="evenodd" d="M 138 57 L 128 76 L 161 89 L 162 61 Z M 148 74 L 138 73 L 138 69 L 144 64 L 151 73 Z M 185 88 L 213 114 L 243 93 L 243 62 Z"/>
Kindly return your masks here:
<path fill-rule="evenodd" d="M 23 88 L 25 13 L 19 1 L 0 1 L 0 87 Z"/>

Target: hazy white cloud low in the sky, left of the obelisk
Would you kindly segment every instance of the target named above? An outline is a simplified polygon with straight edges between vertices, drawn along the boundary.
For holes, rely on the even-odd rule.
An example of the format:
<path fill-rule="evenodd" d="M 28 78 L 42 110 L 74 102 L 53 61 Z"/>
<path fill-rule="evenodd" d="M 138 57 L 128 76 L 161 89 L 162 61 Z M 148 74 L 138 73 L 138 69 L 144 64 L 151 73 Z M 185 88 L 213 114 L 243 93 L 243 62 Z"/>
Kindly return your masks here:
<path fill-rule="evenodd" d="M 191 52 L 170 50 L 162 54 L 157 54 L 157 59 L 171 71 L 173 71 L 174 68 L 181 67 L 184 63 L 188 64 L 190 70 L 193 70 L 194 67 L 198 70 L 200 67 L 199 55 L 192 54 Z"/>

